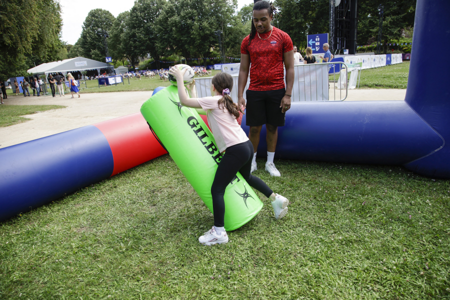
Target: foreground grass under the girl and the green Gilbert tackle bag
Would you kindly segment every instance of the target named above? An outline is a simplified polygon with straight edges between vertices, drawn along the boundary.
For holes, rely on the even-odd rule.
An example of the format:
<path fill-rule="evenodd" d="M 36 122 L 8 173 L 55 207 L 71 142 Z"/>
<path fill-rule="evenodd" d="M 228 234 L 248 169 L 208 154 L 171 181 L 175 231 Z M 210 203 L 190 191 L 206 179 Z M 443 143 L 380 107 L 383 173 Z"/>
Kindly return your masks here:
<path fill-rule="evenodd" d="M 262 159 L 257 159 L 263 165 Z M 290 200 L 203 246 L 212 214 L 163 155 L 0 223 L 4 299 L 435 299 L 450 294 L 448 180 L 275 161 Z"/>

